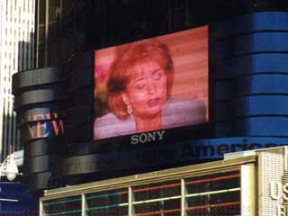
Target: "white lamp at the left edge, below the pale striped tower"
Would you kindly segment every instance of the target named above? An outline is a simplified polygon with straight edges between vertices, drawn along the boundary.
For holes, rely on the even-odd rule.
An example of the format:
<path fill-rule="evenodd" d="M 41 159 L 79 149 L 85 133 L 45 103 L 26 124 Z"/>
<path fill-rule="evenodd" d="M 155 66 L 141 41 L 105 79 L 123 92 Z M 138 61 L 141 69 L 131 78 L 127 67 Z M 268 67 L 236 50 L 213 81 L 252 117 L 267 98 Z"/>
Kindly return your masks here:
<path fill-rule="evenodd" d="M 14 161 L 14 155 L 11 154 L 4 159 L 4 162 L 0 165 L 0 179 L 1 176 L 6 175 L 9 181 L 13 181 L 18 175 L 18 167 Z"/>

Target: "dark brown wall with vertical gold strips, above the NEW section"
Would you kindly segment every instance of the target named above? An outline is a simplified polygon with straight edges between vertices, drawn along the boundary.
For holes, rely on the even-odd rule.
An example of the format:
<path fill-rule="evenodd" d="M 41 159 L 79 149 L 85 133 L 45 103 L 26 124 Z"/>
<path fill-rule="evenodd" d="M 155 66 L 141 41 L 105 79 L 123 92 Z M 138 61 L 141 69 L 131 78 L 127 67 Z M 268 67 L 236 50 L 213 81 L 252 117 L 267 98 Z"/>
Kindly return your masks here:
<path fill-rule="evenodd" d="M 56 65 L 87 49 L 92 0 L 37 1 L 37 66 Z"/>

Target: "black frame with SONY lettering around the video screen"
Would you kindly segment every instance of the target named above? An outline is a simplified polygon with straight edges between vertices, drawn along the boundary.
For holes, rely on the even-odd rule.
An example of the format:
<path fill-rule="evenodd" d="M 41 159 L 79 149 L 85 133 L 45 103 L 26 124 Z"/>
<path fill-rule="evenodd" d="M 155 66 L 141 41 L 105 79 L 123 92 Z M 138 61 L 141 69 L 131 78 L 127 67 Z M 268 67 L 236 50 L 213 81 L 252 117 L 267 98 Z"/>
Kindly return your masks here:
<path fill-rule="evenodd" d="M 138 143 L 138 144 L 131 144 L 131 137 L 134 135 L 140 135 L 142 133 L 148 133 L 148 132 L 161 132 L 162 130 L 152 130 L 148 132 L 139 132 L 139 133 L 133 133 L 133 134 L 128 134 L 128 135 L 121 135 L 117 137 L 109 137 L 109 138 L 104 138 L 104 139 L 96 139 L 92 140 L 92 145 L 90 148 L 90 153 L 109 153 L 109 152 L 115 152 L 115 151 L 129 151 L 132 149 L 140 149 L 140 148 L 149 148 L 153 147 L 155 145 L 166 145 L 166 144 L 173 144 L 181 141 L 186 141 L 186 140 L 193 140 L 193 139 L 209 139 L 214 137 L 215 135 L 215 112 L 214 112 L 214 107 L 215 107 L 215 75 L 213 74 L 213 71 L 215 71 L 215 54 L 216 54 L 216 49 L 213 46 L 215 44 L 213 41 L 215 40 L 215 37 L 212 35 L 211 31 L 211 25 L 205 24 L 202 26 L 195 26 L 193 28 L 189 28 L 183 31 L 188 31 L 188 30 L 193 30 L 196 28 L 202 28 L 206 27 L 207 28 L 207 44 L 208 44 L 208 121 L 203 122 L 201 124 L 196 124 L 196 125 L 188 125 L 188 126 L 182 126 L 179 128 L 169 128 L 169 129 L 163 129 L 165 132 L 168 134 L 168 138 L 164 140 L 151 140 L 149 142 L 144 142 L 144 143 Z M 155 37 L 160 37 L 160 36 L 165 36 L 171 33 L 176 33 L 180 31 L 175 31 L 175 32 L 168 32 L 166 34 L 162 35 L 157 35 L 153 36 L 147 39 L 152 39 Z M 146 40 L 146 39 L 140 39 L 140 40 L 134 40 L 130 41 L 128 43 L 133 43 L 141 40 Z M 126 43 L 125 43 L 126 44 Z M 115 46 L 120 46 L 123 44 L 116 44 Z M 101 49 L 108 49 L 112 48 L 114 46 L 109 46 L 107 48 L 101 48 Z M 100 50 L 100 49 L 94 49 L 94 52 Z M 95 86 L 95 84 L 94 84 Z M 94 107 L 93 107 L 94 109 Z M 94 125 L 92 126 L 94 128 Z M 189 132 L 190 131 L 190 132 Z M 191 132 L 192 131 L 192 132 Z M 188 135 L 188 134 L 195 134 L 197 135 Z M 94 130 L 92 129 L 92 138 L 94 134 Z M 175 137 L 178 137 L 175 139 Z M 107 147 L 109 146 L 109 147 Z"/>

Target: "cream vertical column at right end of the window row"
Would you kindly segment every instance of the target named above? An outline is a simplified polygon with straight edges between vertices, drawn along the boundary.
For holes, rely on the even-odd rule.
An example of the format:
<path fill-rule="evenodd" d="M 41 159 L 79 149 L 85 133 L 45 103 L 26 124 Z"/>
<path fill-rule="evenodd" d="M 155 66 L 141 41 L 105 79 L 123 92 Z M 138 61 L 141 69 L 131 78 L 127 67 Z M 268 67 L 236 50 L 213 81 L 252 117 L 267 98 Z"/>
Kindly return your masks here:
<path fill-rule="evenodd" d="M 255 166 L 241 166 L 241 216 L 256 216 Z"/>

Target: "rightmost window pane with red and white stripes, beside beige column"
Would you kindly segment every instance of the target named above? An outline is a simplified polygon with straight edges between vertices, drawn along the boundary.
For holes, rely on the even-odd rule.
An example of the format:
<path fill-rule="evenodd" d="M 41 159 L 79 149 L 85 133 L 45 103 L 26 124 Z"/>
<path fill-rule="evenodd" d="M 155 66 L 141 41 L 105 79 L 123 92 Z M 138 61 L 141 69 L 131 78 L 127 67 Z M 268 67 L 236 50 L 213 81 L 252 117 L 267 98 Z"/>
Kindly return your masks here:
<path fill-rule="evenodd" d="M 240 214 L 240 175 L 237 172 L 185 179 L 187 216 Z"/>

